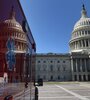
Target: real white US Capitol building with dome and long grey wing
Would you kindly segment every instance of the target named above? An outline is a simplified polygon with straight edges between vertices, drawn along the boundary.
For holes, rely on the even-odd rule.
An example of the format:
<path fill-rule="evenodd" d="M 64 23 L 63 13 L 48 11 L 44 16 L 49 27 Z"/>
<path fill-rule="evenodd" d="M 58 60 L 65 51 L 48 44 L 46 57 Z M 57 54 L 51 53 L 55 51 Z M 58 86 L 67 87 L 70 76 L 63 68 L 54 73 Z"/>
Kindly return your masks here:
<path fill-rule="evenodd" d="M 36 55 L 36 79 L 44 81 L 90 81 L 90 18 L 82 6 L 74 25 L 67 54 Z"/>

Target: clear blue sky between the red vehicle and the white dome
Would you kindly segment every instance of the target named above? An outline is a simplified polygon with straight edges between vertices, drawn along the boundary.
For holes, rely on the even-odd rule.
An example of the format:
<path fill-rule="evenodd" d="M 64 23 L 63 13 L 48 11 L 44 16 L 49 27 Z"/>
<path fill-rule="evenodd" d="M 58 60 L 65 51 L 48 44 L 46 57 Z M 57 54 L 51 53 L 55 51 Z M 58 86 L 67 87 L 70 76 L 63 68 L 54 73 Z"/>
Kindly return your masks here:
<path fill-rule="evenodd" d="M 90 0 L 21 0 L 36 42 L 37 53 L 68 53 L 75 23 L 84 3 L 90 16 Z"/>

